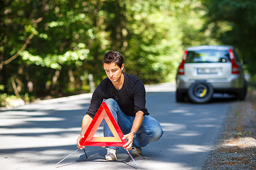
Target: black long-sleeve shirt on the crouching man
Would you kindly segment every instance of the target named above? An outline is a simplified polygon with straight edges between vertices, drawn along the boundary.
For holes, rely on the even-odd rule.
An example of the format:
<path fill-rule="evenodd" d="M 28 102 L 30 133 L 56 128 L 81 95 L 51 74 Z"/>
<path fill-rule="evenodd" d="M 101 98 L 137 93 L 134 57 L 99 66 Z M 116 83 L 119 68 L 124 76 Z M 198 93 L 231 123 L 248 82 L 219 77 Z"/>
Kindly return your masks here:
<path fill-rule="evenodd" d="M 93 92 L 90 106 L 85 114 L 94 117 L 104 99 L 114 99 L 127 116 L 135 116 L 142 111 L 149 114 L 145 107 L 146 91 L 142 81 L 134 75 L 123 73 L 124 82 L 120 90 L 117 90 L 109 78 L 105 78 Z"/>

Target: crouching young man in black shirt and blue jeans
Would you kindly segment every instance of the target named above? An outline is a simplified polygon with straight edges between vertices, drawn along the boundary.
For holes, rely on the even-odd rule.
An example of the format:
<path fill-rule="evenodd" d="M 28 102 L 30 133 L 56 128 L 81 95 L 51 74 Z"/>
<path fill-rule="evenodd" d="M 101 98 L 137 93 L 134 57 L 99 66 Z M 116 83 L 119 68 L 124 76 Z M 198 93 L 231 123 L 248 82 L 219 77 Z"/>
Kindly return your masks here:
<path fill-rule="evenodd" d="M 104 55 L 102 60 L 108 78 L 102 80 L 93 92 L 88 111 L 82 120 L 82 129 L 77 138 L 77 147 L 84 138 L 86 129 L 103 100 L 108 105 L 115 121 L 119 125 L 127 143 L 123 146 L 131 154 L 141 155 L 141 147 L 152 141 L 157 141 L 163 135 L 162 127 L 154 118 L 148 116 L 146 91 L 144 84 L 136 76 L 123 73 L 125 64 L 120 53 L 113 50 Z M 104 120 L 104 137 L 113 137 L 111 130 Z M 83 149 L 84 147 L 81 147 Z M 117 147 L 106 147 L 106 160 L 117 160 Z"/>

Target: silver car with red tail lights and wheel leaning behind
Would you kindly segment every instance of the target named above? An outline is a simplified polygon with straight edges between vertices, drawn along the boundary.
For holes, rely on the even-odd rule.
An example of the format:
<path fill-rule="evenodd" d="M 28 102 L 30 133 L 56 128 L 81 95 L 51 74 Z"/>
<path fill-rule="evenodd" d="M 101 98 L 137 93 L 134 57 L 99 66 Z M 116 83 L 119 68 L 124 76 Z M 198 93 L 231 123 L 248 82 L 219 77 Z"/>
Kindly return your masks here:
<path fill-rule="evenodd" d="M 194 103 L 207 103 L 213 93 L 245 99 L 247 84 L 243 65 L 233 46 L 194 46 L 185 50 L 176 75 L 176 101 L 188 97 Z"/>

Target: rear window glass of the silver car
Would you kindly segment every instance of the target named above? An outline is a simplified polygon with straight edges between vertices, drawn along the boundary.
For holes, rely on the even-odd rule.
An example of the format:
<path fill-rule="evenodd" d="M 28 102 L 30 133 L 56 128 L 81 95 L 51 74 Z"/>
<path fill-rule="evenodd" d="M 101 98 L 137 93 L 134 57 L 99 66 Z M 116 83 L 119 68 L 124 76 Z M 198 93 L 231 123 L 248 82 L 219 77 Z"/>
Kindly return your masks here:
<path fill-rule="evenodd" d="M 186 63 L 198 62 L 230 62 L 228 50 L 191 50 L 188 51 Z"/>

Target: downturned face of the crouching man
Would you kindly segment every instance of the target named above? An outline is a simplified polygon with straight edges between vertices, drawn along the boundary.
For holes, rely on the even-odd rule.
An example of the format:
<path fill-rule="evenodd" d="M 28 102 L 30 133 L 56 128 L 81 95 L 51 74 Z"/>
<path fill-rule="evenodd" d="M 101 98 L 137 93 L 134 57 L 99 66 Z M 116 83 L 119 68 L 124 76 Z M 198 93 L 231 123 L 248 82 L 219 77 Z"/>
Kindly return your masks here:
<path fill-rule="evenodd" d="M 122 67 L 118 67 L 115 63 L 104 63 L 103 67 L 106 71 L 106 75 L 108 78 L 114 83 L 117 82 L 122 75 L 122 70 L 125 65 L 123 64 Z"/>

